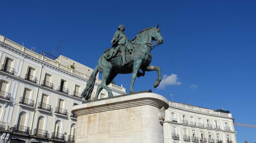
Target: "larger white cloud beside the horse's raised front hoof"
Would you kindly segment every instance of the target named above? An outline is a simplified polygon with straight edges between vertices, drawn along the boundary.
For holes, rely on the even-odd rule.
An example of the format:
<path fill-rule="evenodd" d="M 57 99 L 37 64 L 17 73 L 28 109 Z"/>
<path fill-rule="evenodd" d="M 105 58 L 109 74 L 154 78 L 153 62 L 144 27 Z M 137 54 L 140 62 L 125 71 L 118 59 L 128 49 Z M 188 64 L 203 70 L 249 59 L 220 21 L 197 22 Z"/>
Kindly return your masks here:
<path fill-rule="evenodd" d="M 181 82 L 179 82 L 179 78 L 177 77 L 178 75 L 171 74 L 171 75 L 163 75 L 163 79 L 160 82 L 159 86 L 157 87 L 158 89 L 165 89 L 166 86 L 168 85 L 181 85 Z"/>

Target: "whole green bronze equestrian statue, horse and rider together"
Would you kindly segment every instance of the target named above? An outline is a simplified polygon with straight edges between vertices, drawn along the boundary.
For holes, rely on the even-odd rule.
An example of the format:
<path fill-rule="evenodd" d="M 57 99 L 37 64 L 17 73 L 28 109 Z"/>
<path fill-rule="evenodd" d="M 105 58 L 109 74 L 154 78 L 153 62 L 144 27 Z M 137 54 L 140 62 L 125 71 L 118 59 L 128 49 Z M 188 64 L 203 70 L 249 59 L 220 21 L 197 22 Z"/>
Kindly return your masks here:
<path fill-rule="evenodd" d="M 124 25 L 118 26 L 118 30 L 111 40 L 112 47 L 104 51 L 98 59 L 98 65 L 91 73 L 86 88 L 82 92 L 82 97 L 86 100 L 90 99 L 98 72 L 102 73 L 102 82 L 97 87 L 94 99 L 98 99 L 102 89 L 108 92 L 108 97 L 113 97 L 112 91 L 107 85 L 111 83 L 118 73 L 132 73 L 130 85 L 130 93 L 132 93 L 134 92 L 133 85 L 136 76 L 144 76 L 145 71 L 156 70 L 158 78 L 154 82 L 154 87 L 158 87 L 161 82 L 160 68 L 149 65 L 152 59 L 150 51 L 157 45 L 163 44 L 163 38 L 158 26 L 141 30 L 131 41 L 128 40 L 124 33 Z M 155 42 L 152 42 L 152 40 Z"/>

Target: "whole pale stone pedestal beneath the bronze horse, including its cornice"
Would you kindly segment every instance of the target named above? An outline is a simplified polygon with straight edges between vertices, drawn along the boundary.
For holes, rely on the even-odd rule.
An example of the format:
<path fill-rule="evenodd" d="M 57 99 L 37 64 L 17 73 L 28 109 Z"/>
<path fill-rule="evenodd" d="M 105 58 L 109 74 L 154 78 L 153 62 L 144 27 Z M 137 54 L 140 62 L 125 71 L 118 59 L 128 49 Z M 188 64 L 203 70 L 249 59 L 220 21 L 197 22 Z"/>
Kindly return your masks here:
<path fill-rule="evenodd" d="M 168 108 L 168 100 L 154 93 L 76 105 L 72 109 L 77 115 L 75 143 L 163 143 L 162 107 Z"/>

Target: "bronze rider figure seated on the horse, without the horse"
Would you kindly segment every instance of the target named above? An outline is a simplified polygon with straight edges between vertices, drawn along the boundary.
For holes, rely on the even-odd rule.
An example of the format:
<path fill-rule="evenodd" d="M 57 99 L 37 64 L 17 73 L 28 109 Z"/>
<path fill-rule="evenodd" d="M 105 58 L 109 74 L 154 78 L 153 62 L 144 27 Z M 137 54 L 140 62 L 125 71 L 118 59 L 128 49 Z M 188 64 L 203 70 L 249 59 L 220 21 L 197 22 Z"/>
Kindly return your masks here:
<path fill-rule="evenodd" d="M 119 48 L 118 51 L 121 52 L 122 66 L 129 64 L 125 59 L 125 43 L 129 42 L 127 36 L 124 33 L 124 25 L 119 25 L 118 30 L 116 30 L 113 39 L 111 40 L 113 48 Z"/>

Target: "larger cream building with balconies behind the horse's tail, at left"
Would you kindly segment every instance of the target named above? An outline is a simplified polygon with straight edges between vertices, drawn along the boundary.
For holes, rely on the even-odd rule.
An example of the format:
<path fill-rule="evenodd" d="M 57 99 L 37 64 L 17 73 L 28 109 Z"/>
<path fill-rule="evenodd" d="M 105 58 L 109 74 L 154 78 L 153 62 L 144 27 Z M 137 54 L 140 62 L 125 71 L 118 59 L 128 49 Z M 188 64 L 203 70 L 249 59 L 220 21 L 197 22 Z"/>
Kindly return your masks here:
<path fill-rule="evenodd" d="M 0 64 L 0 143 L 74 143 L 72 106 L 84 101 L 81 92 L 93 69 L 64 56 L 48 58 L 1 35 Z M 91 99 L 100 83 L 97 76 Z M 125 94 L 124 87 L 108 86 L 114 96 Z M 106 97 L 103 89 L 99 98 Z"/>

